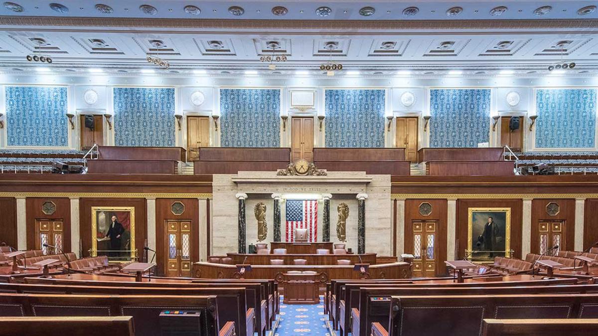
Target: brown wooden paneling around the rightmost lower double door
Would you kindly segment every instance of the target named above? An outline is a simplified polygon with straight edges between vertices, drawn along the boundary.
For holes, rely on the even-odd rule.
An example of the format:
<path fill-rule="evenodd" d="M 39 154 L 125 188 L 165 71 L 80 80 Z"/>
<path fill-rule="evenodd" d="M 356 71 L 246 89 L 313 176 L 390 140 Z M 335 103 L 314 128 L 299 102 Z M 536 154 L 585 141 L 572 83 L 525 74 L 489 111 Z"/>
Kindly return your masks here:
<path fill-rule="evenodd" d="M 549 216 L 546 213 L 548 203 L 559 204 L 559 213 L 556 216 Z M 539 253 L 539 222 L 565 221 L 564 236 L 565 242 L 561 242 L 560 249 L 563 251 L 574 251 L 575 243 L 575 200 L 574 199 L 535 199 L 532 200 L 532 242 L 530 249 L 532 253 Z M 548 247 L 553 246 L 548 242 Z"/>

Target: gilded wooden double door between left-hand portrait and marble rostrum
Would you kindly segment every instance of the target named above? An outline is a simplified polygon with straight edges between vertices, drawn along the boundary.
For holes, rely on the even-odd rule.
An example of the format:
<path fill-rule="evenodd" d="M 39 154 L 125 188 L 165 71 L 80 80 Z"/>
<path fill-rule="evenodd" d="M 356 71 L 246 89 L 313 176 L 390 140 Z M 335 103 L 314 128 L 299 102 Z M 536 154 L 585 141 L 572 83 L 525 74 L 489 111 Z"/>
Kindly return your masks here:
<path fill-rule="evenodd" d="M 166 220 L 166 276 L 191 276 L 191 221 Z"/>

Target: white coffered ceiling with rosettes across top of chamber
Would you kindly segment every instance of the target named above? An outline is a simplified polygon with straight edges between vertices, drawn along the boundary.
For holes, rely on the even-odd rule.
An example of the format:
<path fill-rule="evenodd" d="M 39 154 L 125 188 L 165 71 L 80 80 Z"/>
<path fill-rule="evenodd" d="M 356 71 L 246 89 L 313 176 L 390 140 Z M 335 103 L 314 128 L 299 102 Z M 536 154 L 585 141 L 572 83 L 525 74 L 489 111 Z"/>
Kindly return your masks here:
<path fill-rule="evenodd" d="M 97 11 L 100 1 L 112 13 Z M 285 76 L 299 69 L 317 77 L 325 76 L 319 66 L 330 54 L 343 64 L 337 72 L 341 76 L 408 71 L 426 77 L 455 69 L 463 76 L 487 77 L 504 70 L 515 77 L 541 76 L 549 73 L 548 65 L 560 62 L 577 64 L 565 76 L 595 76 L 598 71 L 598 11 L 578 14 L 595 1 L 57 1 L 68 7 L 67 13 L 39 0 L 12 2 L 23 11 L 0 7 L 0 71 L 5 74 L 42 66 L 28 62 L 28 54 L 52 57 L 54 63 L 43 66 L 64 74 L 102 68 L 137 75 L 145 68 L 167 76 L 197 69 L 214 75 L 255 69 L 260 75 Z M 155 15 L 142 12 L 144 4 L 153 6 Z M 196 5 L 201 13 L 185 13 L 187 5 Z M 228 12 L 233 5 L 243 8 L 242 16 Z M 288 13 L 275 16 L 271 9 L 277 6 Z M 316 14 L 322 6 L 330 8 L 329 16 Z M 374 14 L 360 15 L 368 6 Z M 543 6 L 552 9 L 536 15 Z M 403 11 L 408 7 L 419 11 L 407 17 Z M 447 15 L 452 7 L 462 12 Z M 507 10 L 492 15 L 496 7 Z M 260 60 L 273 54 L 269 42 L 277 44 L 274 56 L 287 57 L 274 71 Z M 327 49 L 330 44 L 333 51 Z M 168 60 L 170 69 L 149 64 L 148 55 Z"/>

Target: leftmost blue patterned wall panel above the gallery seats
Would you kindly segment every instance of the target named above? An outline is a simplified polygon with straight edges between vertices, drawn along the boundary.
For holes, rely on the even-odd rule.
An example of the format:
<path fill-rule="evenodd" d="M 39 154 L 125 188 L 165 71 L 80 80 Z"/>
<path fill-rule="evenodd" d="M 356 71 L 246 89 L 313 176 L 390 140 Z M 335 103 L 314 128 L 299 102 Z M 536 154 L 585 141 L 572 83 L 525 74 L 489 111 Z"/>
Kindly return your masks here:
<path fill-rule="evenodd" d="M 66 91 L 57 86 L 7 86 L 8 146 L 68 146 Z"/>

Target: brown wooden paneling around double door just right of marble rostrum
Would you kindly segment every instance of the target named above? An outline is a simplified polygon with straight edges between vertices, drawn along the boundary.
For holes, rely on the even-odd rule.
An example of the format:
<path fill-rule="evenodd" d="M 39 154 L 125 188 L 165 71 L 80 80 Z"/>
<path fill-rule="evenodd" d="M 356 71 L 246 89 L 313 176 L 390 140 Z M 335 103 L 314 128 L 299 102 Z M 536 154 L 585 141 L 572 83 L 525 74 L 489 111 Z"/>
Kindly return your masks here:
<path fill-rule="evenodd" d="M 429 203 L 432 212 L 428 216 L 419 213 L 419 206 Z M 405 253 L 413 253 L 413 222 L 435 221 L 438 233 L 437 275 L 445 274 L 444 261 L 447 259 L 447 200 L 405 200 Z"/>

